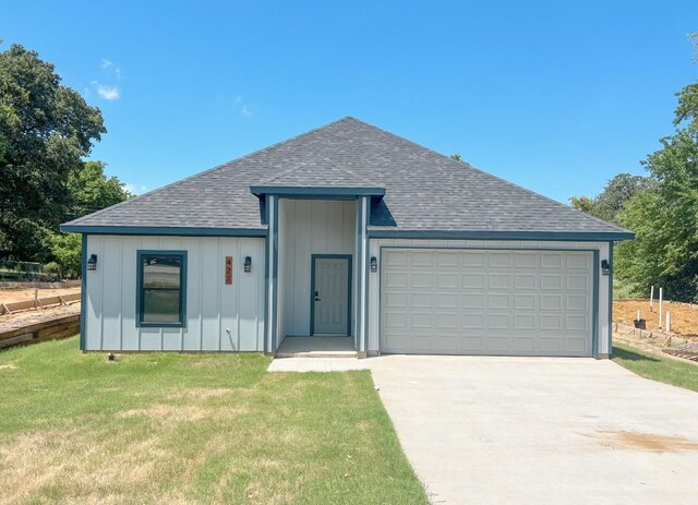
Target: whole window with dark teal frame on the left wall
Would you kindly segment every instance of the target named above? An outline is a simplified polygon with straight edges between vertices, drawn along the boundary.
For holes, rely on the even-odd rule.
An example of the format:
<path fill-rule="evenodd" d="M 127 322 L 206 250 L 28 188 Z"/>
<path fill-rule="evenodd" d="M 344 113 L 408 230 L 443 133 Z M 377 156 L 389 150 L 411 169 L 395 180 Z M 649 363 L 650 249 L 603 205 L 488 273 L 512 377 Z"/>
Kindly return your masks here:
<path fill-rule="evenodd" d="M 140 326 L 183 326 L 185 317 L 184 251 L 139 251 Z"/>

